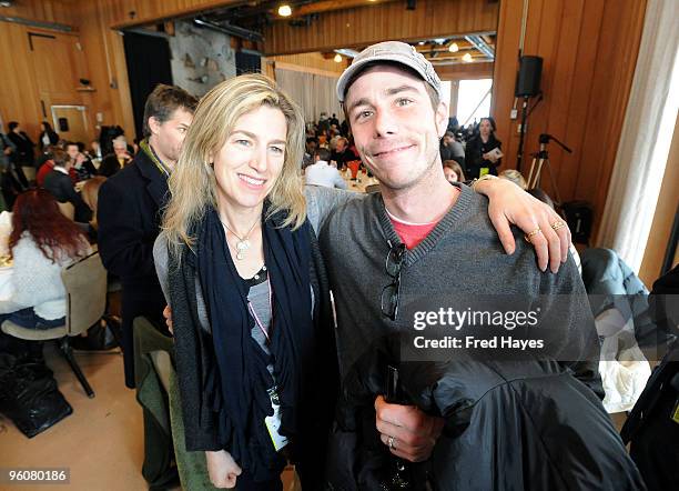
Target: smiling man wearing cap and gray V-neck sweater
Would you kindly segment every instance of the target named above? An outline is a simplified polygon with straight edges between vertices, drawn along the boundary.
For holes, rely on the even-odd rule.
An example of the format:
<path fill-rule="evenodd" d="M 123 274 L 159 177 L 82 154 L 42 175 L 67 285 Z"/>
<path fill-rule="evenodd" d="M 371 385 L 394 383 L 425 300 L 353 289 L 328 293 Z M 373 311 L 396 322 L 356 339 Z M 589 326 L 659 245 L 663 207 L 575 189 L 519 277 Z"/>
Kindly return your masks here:
<path fill-rule="evenodd" d="M 585 290 L 567 257 L 565 223 L 549 210 L 518 223 L 530 232 L 504 254 L 500 240 L 513 232 L 498 224 L 498 240 L 486 199 L 445 179 L 439 140 L 448 111 L 440 80 L 411 46 L 368 47 L 340 78 L 337 97 L 381 192 L 336 207 L 318 231 L 343 377 L 328 457 L 333 489 L 384 489 L 389 453 L 426 461 L 411 469 L 412 489 L 641 489 L 595 395 L 601 395 L 597 333 L 589 309 L 576 300 Z M 555 272 L 546 263 L 536 268 L 526 242 L 549 249 Z M 557 274 L 560 258 L 566 262 Z M 577 361 L 538 364 L 530 377 L 518 372 L 523 392 L 499 362 L 473 365 L 484 370 L 478 374 L 452 363 L 436 383 L 418 387 L 430 365 L 402 363 L 403 347 L 392 334 L 412 322 L 403 314 L 409 299 L 443 294 L 445 301 L 448 292 L 559 293 L 559 337 Z M 401 389 L 411 405 L 387 404 L 381 395 L 387 364 L 403 369 Z M 534 394 L 525 381 L 533 378 L 549 384 L 531 402 L 521 398 Z M 561 427 L 567 430 L 554 431 Z"/>

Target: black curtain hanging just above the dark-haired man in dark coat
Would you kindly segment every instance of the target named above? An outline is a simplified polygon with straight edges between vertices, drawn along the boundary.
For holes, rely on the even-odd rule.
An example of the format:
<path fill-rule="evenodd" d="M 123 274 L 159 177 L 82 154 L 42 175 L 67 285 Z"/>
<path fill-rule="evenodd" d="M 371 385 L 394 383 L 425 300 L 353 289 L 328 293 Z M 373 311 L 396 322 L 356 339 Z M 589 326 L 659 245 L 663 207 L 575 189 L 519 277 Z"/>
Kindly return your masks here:
<path fill-rule="evenodd" d="M 159 83 L 172 84 L 170 44 L 165 38 L 133 32 L 125 32 L 123 40 L 134 113 L 134 131 L 141 139 L 146 98 Z M 130 130 L 126 128 L 125 130 L 128 130 L 126 136 L 130 141 Z"/>

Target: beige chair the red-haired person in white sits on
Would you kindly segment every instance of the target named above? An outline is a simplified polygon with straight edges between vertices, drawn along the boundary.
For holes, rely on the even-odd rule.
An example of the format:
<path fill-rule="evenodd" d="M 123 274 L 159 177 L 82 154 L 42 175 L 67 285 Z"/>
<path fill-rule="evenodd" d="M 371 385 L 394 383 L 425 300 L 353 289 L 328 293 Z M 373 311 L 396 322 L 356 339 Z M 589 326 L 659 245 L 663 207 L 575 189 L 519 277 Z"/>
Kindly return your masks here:
<path fill-rule="evenodd" d="M 11 321 L 2 322 L 2 332 L 29 341 L 59 340 L 59 348 L 71 365 L 89 398 L 94 397 L 82 370 L 80 369 L 69 338 L 80 335 L 101 319 L 107 307 L 107 270 L 101 263 L 99 252 L 64 268 L 61 279 L 67 291 L 65 325 L 52 329 L 27 329 Z"/>

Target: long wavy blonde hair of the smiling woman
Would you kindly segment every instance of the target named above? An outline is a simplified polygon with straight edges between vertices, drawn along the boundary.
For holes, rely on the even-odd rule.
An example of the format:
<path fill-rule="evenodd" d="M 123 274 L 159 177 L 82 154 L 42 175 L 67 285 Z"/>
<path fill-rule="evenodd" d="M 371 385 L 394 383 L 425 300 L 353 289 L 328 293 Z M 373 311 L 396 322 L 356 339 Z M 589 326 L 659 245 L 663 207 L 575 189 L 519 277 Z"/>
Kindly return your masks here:
<path fill-rule="evenodd" d="M 216 179 L 211 156 L 219 153 L 243 114 L 262 106 L 280 109 L 287 122 L 283 169 L 267 199 L 267 217 L 284 212 L 283 227 L 294 229 L 306 219 L 301 163 L 304 152 L 304 117 L 300 108 L 261 74 L 244 74 L 214 87 L 200 101 L 184 139 L 180 158 L 170 176 L 170 201 L 163 231 L 170 250 L 179 257 L 182 246 L 193 247 L 192 226 L 215 207 Z"/>

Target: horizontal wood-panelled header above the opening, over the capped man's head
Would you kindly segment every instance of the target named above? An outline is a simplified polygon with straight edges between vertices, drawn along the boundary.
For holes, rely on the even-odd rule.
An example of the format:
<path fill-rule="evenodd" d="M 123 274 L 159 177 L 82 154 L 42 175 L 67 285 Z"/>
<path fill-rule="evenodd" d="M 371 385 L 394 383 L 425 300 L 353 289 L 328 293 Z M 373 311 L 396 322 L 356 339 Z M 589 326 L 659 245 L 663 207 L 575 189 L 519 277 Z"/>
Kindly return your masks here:
<path fill-rule="evenodd" d="M 485 0 L 419 0 L 323 12 L 310 27 L 277 21 L 264 30 L 267 56 L 354 48 L 387 39 L 417 40 L 497 29 L 498 3 Z"/>

